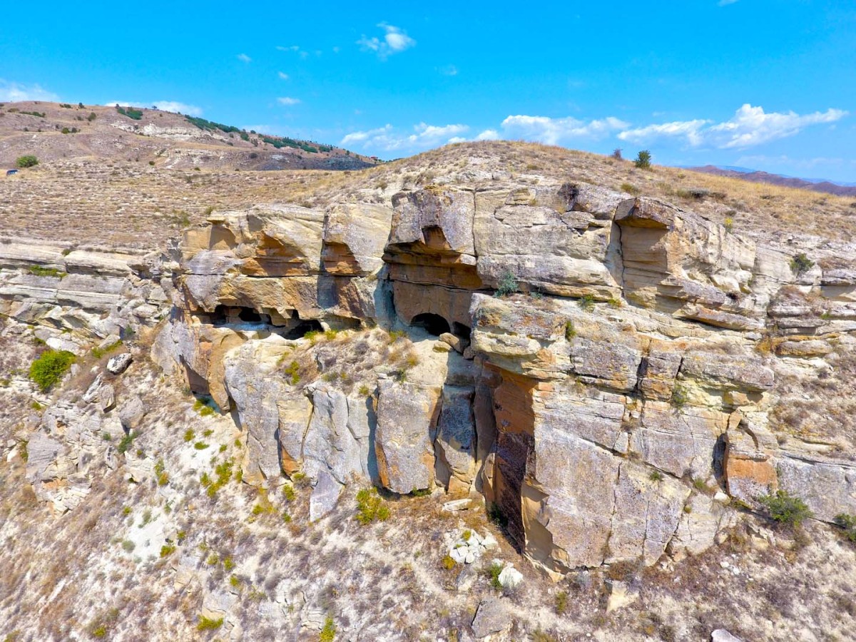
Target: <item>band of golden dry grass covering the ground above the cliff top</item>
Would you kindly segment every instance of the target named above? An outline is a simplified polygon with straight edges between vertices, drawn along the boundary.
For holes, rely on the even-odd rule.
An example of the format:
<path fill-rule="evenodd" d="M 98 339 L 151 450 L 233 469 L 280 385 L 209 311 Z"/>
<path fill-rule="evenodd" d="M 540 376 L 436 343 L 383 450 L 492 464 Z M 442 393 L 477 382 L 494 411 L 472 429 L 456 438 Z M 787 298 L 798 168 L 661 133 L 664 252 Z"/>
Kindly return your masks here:
<path fill-rule="evenodd" d="M 459 143 L 359 171 L 184 171 L 145 163 L 57 161 L 0 181 L 0 234 L 128 247 L 162 247 L 211 209 L 259 203 L 324 208 L 336 201 L 391 205 L 402 189 L 432 183 L 502 187 L 583 181 L 665 199 L 756 237 L 856 233 L 856 200 L 790 187 L 654 166 L 556 146 Z M 708 190 L 696 199 L 693 190 Z"/>

